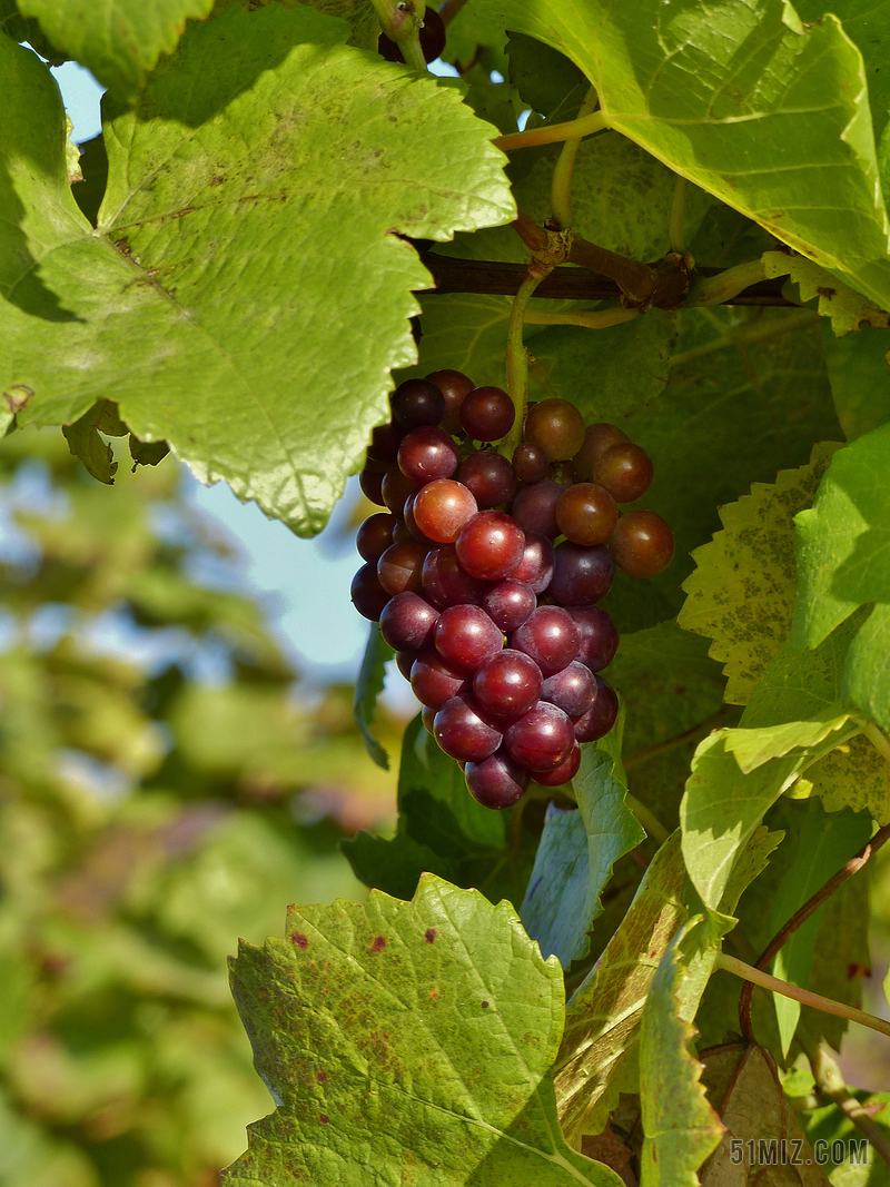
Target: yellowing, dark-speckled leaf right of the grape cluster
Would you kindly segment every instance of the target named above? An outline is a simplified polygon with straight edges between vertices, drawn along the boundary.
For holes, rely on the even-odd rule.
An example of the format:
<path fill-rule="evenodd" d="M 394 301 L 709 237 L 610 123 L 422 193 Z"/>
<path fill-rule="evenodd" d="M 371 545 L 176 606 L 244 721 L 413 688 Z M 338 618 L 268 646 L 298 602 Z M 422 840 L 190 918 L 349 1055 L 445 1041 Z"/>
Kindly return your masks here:
<path fill-rule="evenodd" d="M 781 470 L 774 484 L 720 508 L 724 529 L 693 552 L 678 623 L 713 639 L 708 655 L 724 662 L 724 698 L 743 705 L 787 637 L 794 612 L 795 514 L 807 507 L 840 446 L 814 446 L 809 465 Z"/>

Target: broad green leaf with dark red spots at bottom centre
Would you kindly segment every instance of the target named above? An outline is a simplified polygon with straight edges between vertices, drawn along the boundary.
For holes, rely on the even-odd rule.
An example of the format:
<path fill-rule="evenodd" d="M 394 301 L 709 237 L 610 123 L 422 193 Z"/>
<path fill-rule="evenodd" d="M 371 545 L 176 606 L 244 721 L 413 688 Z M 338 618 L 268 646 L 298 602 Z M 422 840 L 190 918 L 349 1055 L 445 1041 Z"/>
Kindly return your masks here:
<path fill-rule="evenodd" d="M 411 903 L 293 907 L 287 935 L 233 963 L 279 1106 L 228 1183 L 271 1182 L 284 1155 L 292 1181 L 344 1187 L 382 1187 L 394 1166 L 457 1187 L 483 1163 L 504 1187 L 619 1187 L 559 1130 L 562 977 L 507 903 L 426 875 Z"/>

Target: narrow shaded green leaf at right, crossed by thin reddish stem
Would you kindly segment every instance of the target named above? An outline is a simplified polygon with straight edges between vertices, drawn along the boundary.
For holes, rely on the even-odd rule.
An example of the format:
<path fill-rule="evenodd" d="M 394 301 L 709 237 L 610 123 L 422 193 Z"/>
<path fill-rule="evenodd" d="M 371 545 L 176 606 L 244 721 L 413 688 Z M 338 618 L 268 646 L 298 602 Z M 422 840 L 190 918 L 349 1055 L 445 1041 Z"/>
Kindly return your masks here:
<path fill-rule="evenodd" d="M 819 804 L 808 804 L 797 853 L 786 869 L 774 900 L 770 932 L 773 934 L 778 932 L 870 836 L 871 819 L 867 813 L 846 811 L 837 815 L 826 815 Z M 801 989 L 809 989 L 813 954 L 824 915 L 825 907 L 820 907 L 790 937 L 773 961 L 774 976 Z M 794 1032 L 797 1029 L 800 1002 L 781 994 L 774 994 L 773 1002 L 778 1020 L 782 1054 L 787 1056 Z"/>

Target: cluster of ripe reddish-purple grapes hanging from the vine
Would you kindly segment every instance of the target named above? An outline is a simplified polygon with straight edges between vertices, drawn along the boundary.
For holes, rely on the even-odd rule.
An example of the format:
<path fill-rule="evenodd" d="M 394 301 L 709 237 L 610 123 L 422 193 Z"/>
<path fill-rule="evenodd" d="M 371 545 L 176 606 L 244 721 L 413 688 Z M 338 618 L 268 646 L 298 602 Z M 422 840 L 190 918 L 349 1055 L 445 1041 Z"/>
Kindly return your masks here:
<path fill-rule="evenodd" d="M 653 512 L 618 512 L 649 487 L 648 455 L 565 400 L 529 406 L 513 462 L 490 447 L 515 417 L 501 388 L 440 370 L 400 385 L 392 410 L 360 478 L 387 510 L 358 529 L 352 602 L 380 622 L 472 795 L 509 807 L 532 777 L 572 779 L 579 743 L 612 728 L 598 673 L 618 631 L 596 603 L 616 566 L 661 572 L 674 538 Z"/>

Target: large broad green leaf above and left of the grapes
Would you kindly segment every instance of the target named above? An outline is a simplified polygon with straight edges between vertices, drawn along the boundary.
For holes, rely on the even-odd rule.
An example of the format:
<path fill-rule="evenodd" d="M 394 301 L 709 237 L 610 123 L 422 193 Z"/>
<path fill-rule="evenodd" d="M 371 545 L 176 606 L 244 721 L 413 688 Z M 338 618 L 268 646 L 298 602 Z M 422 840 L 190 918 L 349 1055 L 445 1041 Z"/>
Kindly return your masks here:
<path fill-rule="evenodd" d="M 55 82 L 30 51 L 0 51 L 19 104 L 0 150 L 17 245 L 4 382 L 38 393 L 39 423 L 117 399 L 140 440 L 303 534 L 387 418 L 389 368 L 413 357 L 409 290 L 427 273 L 394 231 L 441 240 L 513 212 L 489 126 L 432 80 L 338 46 L 348 32 L 278 5 L 191 26 L 107 125 L 98 234 L 63 173 Z"/>

